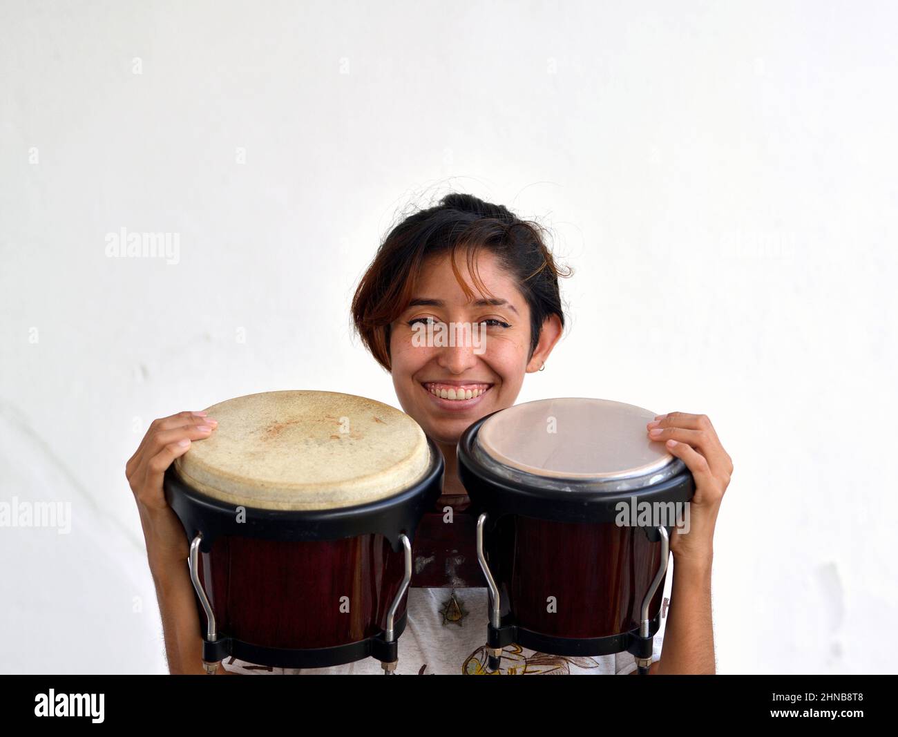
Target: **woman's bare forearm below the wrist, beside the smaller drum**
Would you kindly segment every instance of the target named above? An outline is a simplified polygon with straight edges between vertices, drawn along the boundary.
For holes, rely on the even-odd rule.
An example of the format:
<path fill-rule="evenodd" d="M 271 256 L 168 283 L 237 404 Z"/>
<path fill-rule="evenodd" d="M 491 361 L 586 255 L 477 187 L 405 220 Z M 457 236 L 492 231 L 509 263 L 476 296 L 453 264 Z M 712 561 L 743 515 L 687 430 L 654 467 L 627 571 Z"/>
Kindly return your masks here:
<path fill-rule="evenodd" d="M 714 629 L 711 624 L 711 559 L 700 563 L 674 557 L 674 582 L 667 612 L 664 645 L 654 671 L 714 673 Z"/>

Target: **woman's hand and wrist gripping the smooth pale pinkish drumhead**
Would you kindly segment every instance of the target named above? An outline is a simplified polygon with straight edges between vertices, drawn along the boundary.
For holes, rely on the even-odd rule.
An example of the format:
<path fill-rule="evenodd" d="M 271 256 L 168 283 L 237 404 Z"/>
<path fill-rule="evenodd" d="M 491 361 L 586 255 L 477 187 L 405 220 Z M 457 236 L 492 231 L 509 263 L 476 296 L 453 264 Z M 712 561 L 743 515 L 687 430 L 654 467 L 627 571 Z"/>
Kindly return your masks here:
<path fill-rule="evenodd" d="M 647 432 L 649 439 L 665 443 L 668 452 L 681 459 L 695 479 L 689 532 L 675 531 L 671 540 L 674 562 L 710 568 L 714 525 L 733 475 L 733 461 L 706 415 L 686 412 L 658 415 L 654 422 L 648 423 Z"/>

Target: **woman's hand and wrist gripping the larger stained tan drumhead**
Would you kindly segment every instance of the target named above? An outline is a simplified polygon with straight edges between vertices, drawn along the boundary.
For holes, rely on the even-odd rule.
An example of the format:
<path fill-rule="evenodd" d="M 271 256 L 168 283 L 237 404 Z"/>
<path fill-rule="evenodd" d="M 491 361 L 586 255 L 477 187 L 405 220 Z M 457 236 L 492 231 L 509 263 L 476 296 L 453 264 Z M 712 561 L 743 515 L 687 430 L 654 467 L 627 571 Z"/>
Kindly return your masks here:
<path fill-rule="evenodd" d="M 189 554 L 184 527 L 165 501 L 165 469 L 189 451 L 192 441 L 209 437 L 217 424 L 205 412 L 179 412 L 154 420 L 125 464 L 125 476 L 134 492 L 144 528 L 146 555 L 154 575 L 160 573 L 157 570 L 160 566 L 183 566 Z"/>

